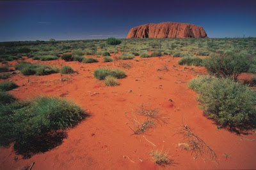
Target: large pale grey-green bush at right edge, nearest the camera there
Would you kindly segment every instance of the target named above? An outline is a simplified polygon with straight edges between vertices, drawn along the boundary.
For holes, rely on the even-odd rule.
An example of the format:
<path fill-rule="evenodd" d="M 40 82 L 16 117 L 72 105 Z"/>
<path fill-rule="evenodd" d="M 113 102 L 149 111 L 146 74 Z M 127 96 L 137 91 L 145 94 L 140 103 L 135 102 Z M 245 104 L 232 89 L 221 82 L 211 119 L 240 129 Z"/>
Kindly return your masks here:
<path fill-rule="evenodd" d="M 255 125 L 256 94 L 229 78 L 200 76 L 189 82 L 204 113 L 223 126 Z"/>

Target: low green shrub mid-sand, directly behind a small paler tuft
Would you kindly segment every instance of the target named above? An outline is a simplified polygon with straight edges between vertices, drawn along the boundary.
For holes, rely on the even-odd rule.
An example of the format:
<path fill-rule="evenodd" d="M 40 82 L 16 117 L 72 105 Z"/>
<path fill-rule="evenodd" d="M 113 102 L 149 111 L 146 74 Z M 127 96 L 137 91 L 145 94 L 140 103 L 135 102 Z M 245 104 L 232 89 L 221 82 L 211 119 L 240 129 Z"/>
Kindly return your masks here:
<path fill-rule="evenodd" d="M 113 76 L 115 78 L 125 78 L 125 72 L 120 69 L 99 68 L 95 69 L 93 76 L 99 80 L 104 80 L 106 76 Z"/>

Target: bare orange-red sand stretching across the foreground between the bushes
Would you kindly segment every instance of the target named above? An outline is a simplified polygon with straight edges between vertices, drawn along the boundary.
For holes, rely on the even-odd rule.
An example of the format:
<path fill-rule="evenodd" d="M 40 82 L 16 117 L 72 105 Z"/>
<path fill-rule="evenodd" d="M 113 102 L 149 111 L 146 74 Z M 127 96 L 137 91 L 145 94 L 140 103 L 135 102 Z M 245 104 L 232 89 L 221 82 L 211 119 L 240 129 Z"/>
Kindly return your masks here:
<path fill-rule="evenodd" d="M 137 59 L 138 62 L 119 60 L 104 63 L 100 57 L 100 62 L 93 64 L 63 60 L 39 61 L 51 66 L 70 65 L 79 74 L 63 76 L 67 81 L 60 81 L 60 74 L 29 76 L 29 83 L 22 74 L 9 78 L 20 85 L 10 92 L 19 99 L 40 94 L 67 97 L 88 111 L 91 117 L 68 130 L 68 138 L 63 140 L 62 145 L 49 152 L 33 155 L 31 159 L 15 155 L 12 146 L 0 148 L 0 169 L 20 169 L 33 162 L 33 169 L 256 168 L 255 132 L 237 135 L 226 129 L 218 130 L 214 122 L 204 117 L 203 111 L 198 109 L 196 93 L 188 88 L 187 83 L 197 75 L 205 74 L 203 67 L 191 69 L 186 66 L 187 69 L 184 69 L 184 66 L 177 64 L 178 58 L 170 56 Z M 103 81 L 93 78 L 93 71 L 97 67 L 117 67 L 118 62 L 132 63 L 131 69 L 124 69 L 127 77 L 118 80 L 119 86 L 105 87 Z M 10 63 L 16 64 L 17 61 Z M 168 64 L 170 71 L 157 71 L 163 64 Z M 155 129 L 131 136 L 133 132 L 130 127 L 134 127 L 134 118 L 139 122 L 147 120 L 136 115 L 135 110 L 141 104 L 158 108 L 166 124 L 157 123 Z M 191 127 L 211 146 L 217 155 L 217 162 L 204 161 L 200 157 L 194 160 L 190 151 L 179 148 L 182 138 L 174 134 L 182 124 Z M 152 150 L 162 148 L 172 157 L 173 164 L 158 166 L 148 155 Z M 230 157 L 225 158 L 224 153 Z"/>

